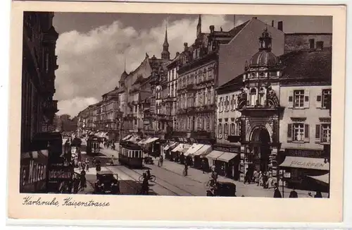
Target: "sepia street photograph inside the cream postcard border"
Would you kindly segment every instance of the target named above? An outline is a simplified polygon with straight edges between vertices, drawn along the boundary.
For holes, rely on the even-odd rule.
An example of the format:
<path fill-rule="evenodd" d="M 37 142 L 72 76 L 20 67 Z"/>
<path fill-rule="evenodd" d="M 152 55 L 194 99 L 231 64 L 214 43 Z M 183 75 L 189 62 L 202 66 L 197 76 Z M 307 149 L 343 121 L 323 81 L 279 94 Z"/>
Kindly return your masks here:
<path fill-rule="evenodd" d="M 329 198 L 333 37 L 332 16 L 25 11 L 20 193 Z"/>

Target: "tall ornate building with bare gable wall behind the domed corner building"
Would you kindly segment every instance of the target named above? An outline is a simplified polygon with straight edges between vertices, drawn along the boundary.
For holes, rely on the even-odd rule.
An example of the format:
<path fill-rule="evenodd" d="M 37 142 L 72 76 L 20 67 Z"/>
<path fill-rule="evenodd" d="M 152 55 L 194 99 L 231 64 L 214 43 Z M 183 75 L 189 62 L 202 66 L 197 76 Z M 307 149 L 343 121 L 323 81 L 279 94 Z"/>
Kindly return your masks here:
<path fill-rule="evenodd" d="M 253 54 L 251 50 L 254 52 L 256 49 L 253 44 L 257 43 L 252 39 L 253 35 L 260 35 L 266 27 L 270 26 L 252 18 L 227 32 L 222 31 L 222 28 L 215 31 L 215 27 L 210 25 L 210 32 L 203 33 L 199 16 L 196 41 L 191 47 L 188 47 L 187 43 L 184 44 L 177 71 L 178 135 L 199 141 L 214 141 L 217 107 L 215 88 L 230 80 L 229 76 L 234 73 L 237 63 L 244 63 L 246 58 L 250 58 Z M 274 32 L 275 37 L 280 37 L 282 46 L 277 46 L 281 47 L 277 49 L 277 53 L 283 54 L 284 33 L 273 27 L 270 27 L 270 30 Z"/>

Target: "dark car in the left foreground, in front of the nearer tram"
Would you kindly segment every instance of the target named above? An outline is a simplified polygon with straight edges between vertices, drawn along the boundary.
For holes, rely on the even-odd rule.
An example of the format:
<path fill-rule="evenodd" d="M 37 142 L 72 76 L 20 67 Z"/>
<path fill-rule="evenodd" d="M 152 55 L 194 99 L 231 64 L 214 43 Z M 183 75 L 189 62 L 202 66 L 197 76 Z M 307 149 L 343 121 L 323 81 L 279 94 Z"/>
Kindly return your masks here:
<path fill-rule="evenodd" d="M 96 183 L 94 184 L 94 193 L 111 193 L 120 192 L 118 179 L 114 177 L 111 171 L 98 171 L 96 173 Z"/>

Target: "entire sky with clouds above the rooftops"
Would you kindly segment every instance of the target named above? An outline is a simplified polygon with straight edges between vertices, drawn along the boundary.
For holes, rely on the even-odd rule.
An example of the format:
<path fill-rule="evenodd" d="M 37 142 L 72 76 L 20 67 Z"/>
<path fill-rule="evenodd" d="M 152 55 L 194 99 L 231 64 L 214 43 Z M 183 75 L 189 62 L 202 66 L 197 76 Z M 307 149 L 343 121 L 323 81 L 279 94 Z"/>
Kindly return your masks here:
<path fill-rule="evenodd" d="M 147 13 L 55 13 L 58 114 L 76 116 L 137 68 L 146 53 L 160 58 L 168 26 L 171 59 L 196 38 L 198 15 Z M 255 16 L 202 15 L 202 31 L 231 30 Z M 268 25 L 282 20 L 284 32 L 332 32 L 332 17 L 256 16 Z M 235 20 L 234 20 L 235 19 Z M 126 63 L 126 66 L 125 66 Z"/>

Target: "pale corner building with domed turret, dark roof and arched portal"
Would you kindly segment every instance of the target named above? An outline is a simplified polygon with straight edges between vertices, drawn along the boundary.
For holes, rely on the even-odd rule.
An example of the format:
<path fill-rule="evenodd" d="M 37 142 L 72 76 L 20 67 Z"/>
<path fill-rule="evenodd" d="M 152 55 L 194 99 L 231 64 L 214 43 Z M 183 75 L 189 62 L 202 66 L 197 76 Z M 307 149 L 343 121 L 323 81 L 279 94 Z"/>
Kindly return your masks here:
<path fill-rule="evenodd" d="M 331 47 L 277 57 L 268 30 L 259 41 L 244 73 L 218 88 L 218 143 L 241 145 L 242 180 L 253 170 L 277 180 L 280 166 L 290 183 L 301 183 L 328 169 Z"/>

